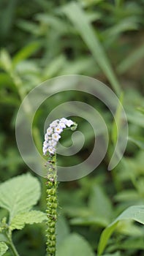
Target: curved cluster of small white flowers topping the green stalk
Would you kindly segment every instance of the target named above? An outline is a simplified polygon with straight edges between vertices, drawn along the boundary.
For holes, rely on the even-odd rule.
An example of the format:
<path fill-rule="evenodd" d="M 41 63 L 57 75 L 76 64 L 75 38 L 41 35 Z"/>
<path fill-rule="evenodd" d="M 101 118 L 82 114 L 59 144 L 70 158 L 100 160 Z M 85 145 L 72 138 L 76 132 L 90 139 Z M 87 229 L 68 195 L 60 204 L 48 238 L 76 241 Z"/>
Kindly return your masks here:
<path fill-rule="evenodd" d="M 43 143 L 43 154 L 55 154 L 56 152 L 56 145 L 58 140 L 61 138 L 61 132 L 66 127 L 71 127 L 75 125 L 75 123 L 67 118 L 56 119 L 50 124 L 48 127 L 47 132 L 45 134 L 45 141 Z"/>

